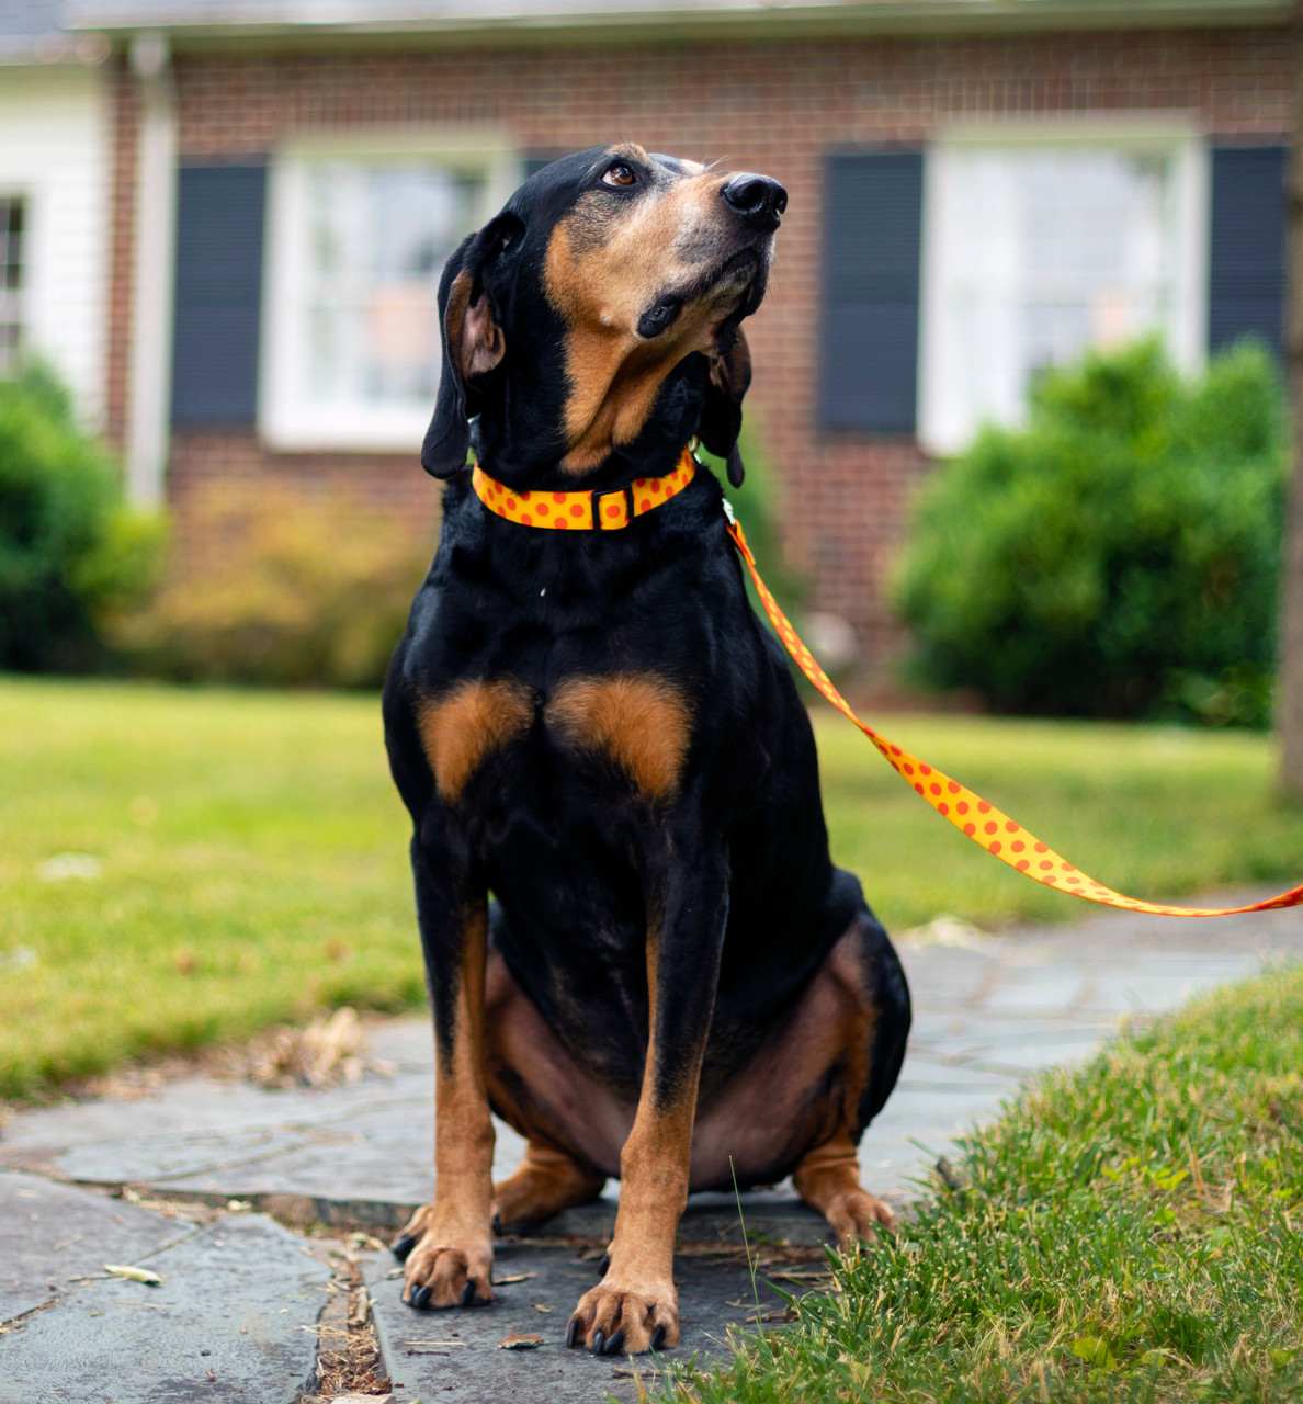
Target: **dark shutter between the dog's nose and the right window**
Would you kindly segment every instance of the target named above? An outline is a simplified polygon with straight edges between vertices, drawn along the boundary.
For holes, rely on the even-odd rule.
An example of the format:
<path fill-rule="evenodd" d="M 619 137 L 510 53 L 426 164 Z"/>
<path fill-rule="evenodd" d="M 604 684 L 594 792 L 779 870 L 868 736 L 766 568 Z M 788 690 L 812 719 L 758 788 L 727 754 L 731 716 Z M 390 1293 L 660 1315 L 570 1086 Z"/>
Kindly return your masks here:
<path fill-rule="evenodd" d="M 838 153 L 824 180 L 819 421 L 913 434 L 922 152 Z"/>

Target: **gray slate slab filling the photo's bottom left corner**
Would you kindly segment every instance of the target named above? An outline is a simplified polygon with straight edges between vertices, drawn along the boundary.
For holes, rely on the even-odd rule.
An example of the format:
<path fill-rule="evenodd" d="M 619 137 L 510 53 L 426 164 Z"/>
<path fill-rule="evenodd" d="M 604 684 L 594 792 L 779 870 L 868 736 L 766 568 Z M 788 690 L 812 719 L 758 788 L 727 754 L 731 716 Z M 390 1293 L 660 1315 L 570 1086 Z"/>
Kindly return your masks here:
<path fill-rule="evenodd" d="M 230 1217 L 143 1265 L 161 1286 L 86 1283 L 0 1335 L 0 1404 L 299 1397 L 330 1273 L 293 1234 L 261 1214 Z"/>

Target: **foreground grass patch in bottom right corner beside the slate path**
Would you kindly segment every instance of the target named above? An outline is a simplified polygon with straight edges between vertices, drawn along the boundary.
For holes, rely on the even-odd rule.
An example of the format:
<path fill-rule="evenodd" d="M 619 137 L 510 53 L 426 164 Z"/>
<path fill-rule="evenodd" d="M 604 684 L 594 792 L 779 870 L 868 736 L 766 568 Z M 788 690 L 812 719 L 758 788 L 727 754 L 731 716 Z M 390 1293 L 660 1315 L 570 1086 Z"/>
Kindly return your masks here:
<path fill-rule="evenodd" d="M 666 1397 L 1303 1400 L 1303 967 L 1050 1074 L 958 1171 Z"/>

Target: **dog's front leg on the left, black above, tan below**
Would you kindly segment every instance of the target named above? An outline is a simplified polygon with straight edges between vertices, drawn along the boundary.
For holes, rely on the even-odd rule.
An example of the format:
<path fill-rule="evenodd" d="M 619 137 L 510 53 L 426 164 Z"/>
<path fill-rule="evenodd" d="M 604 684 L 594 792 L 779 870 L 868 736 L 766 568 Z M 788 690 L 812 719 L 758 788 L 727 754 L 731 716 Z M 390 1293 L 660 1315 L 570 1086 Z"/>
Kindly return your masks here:
<path fill-rule="evenodd" d="M 484 1080 L 487 906 L 447 849 L 413 844 L 417 917 L 434 1012 L 434 1203 L 395 1244 L 414 1307 L 493 1300 L 493 1122 Z"/>

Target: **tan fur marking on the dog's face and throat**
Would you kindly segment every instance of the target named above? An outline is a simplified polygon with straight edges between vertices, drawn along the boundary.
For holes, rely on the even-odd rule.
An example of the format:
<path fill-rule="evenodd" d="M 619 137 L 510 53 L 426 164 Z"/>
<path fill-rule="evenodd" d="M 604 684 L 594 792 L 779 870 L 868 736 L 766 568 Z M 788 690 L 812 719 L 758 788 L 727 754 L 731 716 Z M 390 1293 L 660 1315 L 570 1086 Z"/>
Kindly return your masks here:
<path fill-rule="evenodd" d="M 608 156 L 647 160 L 632 145 Z M 715 330 L 743 291 L 733 282 L 684 307 L 654 340 L 639 337 L 637 323 L 657 296 L 689 286 L 719 256 L 727 237 L 719 191 L 727 180 L 688 166 L 685 174 L 660 174 L 636 199 L 590 191 L 553 230 L 543 288 L 569 327 L 563 469 L 584 472 L 612 445 L 630 442 L 668 372 L 689 352 L 713 348 Z"/>

